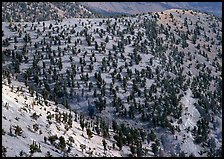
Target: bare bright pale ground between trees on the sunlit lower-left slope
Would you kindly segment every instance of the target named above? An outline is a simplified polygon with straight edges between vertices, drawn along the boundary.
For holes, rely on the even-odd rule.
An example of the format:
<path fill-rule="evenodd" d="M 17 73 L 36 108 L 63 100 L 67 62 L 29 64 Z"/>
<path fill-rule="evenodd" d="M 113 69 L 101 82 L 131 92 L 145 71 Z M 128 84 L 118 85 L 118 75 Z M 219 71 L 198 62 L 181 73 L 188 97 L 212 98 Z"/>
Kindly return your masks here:
<path fill-rule="evenodd" d="M 51 135 L 57 134 L 58 137 L 64 134 L 63 124 L 58 124 L 54 121 L 49 127 L 49 124 L 46 120 L 47 111 L 54 113 L 53 109 L 55 109 L 56 106 L 51 103 L 51 107 L 47 107 L 45 105 L 35 105 L 34 109 L 29 106 L 27 107 L 25 106 L 25 103 L 27 103 L 28 105 L 31 104 L 34 100 L 34 97 L 27 96 L 28 99 L 26 100 L 23 95 L 18 96 L 18 93 L 15 93 L 15 87 L 16 85 L 14 83 L 14 91 L 11 92 L 11 88 L 8 85 L 2 85 L 2 128 L 6 132 L 6 134 L 3 135 L 2 145 L 7 148 L 6 156 L 19 156 L 21 150 L 24 151 L 26 154 L 29 154 L 29 145 L 32 144 L 33 140 L 40 144 L 41 147 L 41 153 L 34 153 L 33 156 L 45 156 L 47 151 L 50 151 L 50 154 L 53 156 L 63 156 L 63 153 L 60 150 L 56 150 L 54 146 L 50 145 L 49 141 L 47 142 L 47 144 L 44 143 L 44 136 L 48 136 L 49 133 Z M 24 91 L 27 90 L 24 89 Z M 7 107 L 5 107 L 6 102 L 9 103 L 9 106 Z M 26 108 L 27 112 L 25 112 L 21 108 Z M 46 109 L 46 111 L 44 109 Z M 59 111 L 69 112 L 68 110 L 65 110 L 63 108 L 59 108 Z M 36 112 L 38 115 L 41 114 L 37 121 L 30 117 L 34 112 Z M 16 120 L 16 118 L 18 119 L 18 121 Z M 39 134 L 38 131 L 33 131 L 32 125 L 35 123 L 39 125 L 39 129 L 42 131 L 42 134 Z M 12 127 L 19 125 L 23 130 L 22 135 L 8 135 L 10 125 Z M 57 127 L 59 127 L 60 130 L 58 130 Z M 32 132 L 29 129 L 31 129 Z M 12 133 L 14 134 L 13 129 Z M 103 138 L 94 134 L 91 139 L 88 139 L 88 136 L 86 135 L 86 130 L 82 131 L 80 128 L 80 124 L 77 122 L 73 122 L 72 128 L 64 136 L 65 139 L 67 140 L 70 135 L 73 136 L 75 143 L 73 144 L 71 153 L 69 153 L 69 155 L 75 156 L 77 154 L 78 156 L 89 156 L 87 152 L 89 149 L 91 149 L 94 151 L 93 156 L 121 156 L 120 151 L 113 149 L 107 150 L 106 154 L 104 154 L 104 148 L 102 145 Z M 106 142 L 107 146 L 112 147 L 111 139 L 106 139 Z M 86 151 L 84 150 L 83 153 L 81 152 L 80 144 L 86 145 Z M 125 149 L 126 148 L 124 147 L 124 150 Z"/>

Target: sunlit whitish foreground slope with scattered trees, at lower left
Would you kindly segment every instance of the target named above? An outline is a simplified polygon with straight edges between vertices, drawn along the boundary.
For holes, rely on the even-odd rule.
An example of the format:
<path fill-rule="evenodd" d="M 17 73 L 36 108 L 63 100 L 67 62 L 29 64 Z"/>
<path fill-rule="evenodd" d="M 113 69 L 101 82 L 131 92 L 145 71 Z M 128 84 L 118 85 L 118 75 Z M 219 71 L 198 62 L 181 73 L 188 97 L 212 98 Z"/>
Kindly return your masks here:
<path fill-rule="evenodd" d="M 108 150 L 104 151 L 102 136 L 93 133 L 89 137 L 86 129 L 80 127 L 79 114 L 52 102 L 46 105 L 43 99 L 37 103 L 36 96 L 30 95 L 20 82 L 5 83 L 2 83 L 2 150 L 5 148 L 6 152 L 2 156 L 121 156 L 117 148 L 112 149 L 113 140 L 105 140 Z M 95 124 L 91 119 L 85 119 L 85 123 Z"/>

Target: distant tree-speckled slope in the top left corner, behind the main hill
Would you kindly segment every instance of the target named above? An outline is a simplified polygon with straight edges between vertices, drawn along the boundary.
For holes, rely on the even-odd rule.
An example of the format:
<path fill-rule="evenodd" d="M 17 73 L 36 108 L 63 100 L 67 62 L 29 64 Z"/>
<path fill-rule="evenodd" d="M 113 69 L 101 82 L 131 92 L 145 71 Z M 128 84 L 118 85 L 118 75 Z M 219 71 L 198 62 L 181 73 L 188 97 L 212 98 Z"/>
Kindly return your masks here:
<path fill-rule="evenodd" d="M 96 17 L 76 2 L 2 2 L 2 21 L 34 22 Z"/>

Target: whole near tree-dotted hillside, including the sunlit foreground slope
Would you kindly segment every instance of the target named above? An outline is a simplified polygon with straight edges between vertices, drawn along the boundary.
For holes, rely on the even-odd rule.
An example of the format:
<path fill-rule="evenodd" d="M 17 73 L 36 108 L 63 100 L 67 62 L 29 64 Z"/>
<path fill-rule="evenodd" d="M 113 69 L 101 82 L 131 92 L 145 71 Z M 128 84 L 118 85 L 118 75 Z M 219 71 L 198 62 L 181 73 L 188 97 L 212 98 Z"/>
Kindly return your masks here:
<path fill-rule="evenodd" d="M 221 156 L 221 19 L 170 9 L 2 22 L 2 33 L 6 156 Z"/>

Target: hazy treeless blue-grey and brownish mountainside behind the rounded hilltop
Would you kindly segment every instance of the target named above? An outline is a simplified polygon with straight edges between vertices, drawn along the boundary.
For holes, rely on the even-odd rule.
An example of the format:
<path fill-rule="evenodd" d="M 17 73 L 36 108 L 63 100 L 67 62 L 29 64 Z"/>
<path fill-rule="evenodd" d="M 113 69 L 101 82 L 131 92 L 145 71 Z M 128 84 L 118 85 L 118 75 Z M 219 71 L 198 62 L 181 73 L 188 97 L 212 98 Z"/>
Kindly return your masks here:
<path fill-rule="evenodd" d="M 196 9 L 222 15 L 221 2 L 81 2 L 100 13 L 139 14 L 163 11 L 171 8 Z"/>

